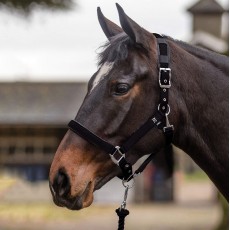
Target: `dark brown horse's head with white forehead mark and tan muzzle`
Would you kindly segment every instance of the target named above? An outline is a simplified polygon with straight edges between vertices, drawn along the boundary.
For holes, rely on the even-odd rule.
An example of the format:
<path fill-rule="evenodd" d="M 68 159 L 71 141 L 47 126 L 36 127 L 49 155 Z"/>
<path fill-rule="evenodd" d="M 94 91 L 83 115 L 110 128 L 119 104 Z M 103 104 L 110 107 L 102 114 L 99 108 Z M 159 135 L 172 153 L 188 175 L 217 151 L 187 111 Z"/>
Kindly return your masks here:
<path fill-rule="evenodd" d="M 108 42 L 99 54 L 75 120 L 113 145 L 123 143 L 155 112 L 159 101 L 156 37 L 143 29 L 117 4 L 121 27 L 98 8 L 98 19 Z M 164 146 L 154 129 L 126 154 L 134 164 Z M 93 202 L 93 192 L 121 173 L 100 147 L 68 130 L 50 169 L 50 188 L 59 206 L 78 210 Z"/>

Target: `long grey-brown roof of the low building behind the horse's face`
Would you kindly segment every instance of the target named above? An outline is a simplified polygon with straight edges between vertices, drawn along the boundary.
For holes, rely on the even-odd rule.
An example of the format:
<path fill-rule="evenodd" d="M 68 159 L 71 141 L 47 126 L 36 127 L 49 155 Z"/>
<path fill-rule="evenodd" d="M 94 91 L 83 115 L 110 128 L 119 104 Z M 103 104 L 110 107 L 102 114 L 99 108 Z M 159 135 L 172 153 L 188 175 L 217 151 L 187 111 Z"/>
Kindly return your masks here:
<path fill-rule="evenodd" d="M 76 116 L 86 83 L 0 83 L 0 125 L 66 125 Z"/>

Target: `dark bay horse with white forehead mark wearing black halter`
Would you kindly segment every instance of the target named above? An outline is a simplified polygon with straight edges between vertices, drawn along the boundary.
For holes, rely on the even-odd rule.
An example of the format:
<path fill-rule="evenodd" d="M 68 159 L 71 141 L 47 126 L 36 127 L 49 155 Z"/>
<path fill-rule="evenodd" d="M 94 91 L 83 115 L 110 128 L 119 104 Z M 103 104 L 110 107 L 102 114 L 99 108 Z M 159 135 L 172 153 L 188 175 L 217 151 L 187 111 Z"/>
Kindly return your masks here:
<path fill-rule="evenodd" d="M 98 8 L 108 42 L 99 54 L 98 71 L 88 82 L 85 99 L 54 156 L 49 176 L 54 202 L 71 210 L 88 207 L 93 192 L 121 174 L 113 161 L 133 165 L 142 156 L 164 148 L 162 129 L 148 129 L 125 156 L 117 148 L 146 121 L 156 125 L 157 118 L 152 116 L 159 110 L 164 92 L 169 93 L 170 107 L 164 108 L 164 122 L 156 123 L 166 123 L 168 128 L 170 119 L 173 145 L 184 150 L 228 200 L 228 58 L 154 35 L 118 4 L 117 9 L 121 27 Z M 159 55 L 159 39 L 167 42 L 168 54 Z M 165 59 L 170 68 L 163 68 L 168 79 L 162 86 L 159 62 Z M 106 152 L 108 146 L 116 146 L 118 157 Z"/>

